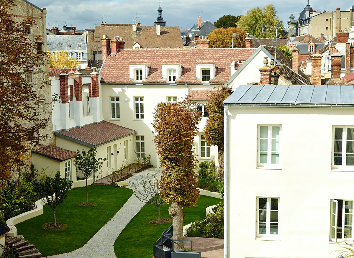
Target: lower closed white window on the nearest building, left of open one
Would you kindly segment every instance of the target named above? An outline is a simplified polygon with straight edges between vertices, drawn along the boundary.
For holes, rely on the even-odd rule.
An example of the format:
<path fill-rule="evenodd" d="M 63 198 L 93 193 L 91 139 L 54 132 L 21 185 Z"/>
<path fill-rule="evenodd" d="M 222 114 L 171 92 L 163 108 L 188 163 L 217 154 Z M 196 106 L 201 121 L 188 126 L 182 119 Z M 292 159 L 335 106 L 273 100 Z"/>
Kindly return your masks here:
<path fill-rule="evenodd" d="M 257 236 L 278 235 L 280 198 L 257 197 Z"/>

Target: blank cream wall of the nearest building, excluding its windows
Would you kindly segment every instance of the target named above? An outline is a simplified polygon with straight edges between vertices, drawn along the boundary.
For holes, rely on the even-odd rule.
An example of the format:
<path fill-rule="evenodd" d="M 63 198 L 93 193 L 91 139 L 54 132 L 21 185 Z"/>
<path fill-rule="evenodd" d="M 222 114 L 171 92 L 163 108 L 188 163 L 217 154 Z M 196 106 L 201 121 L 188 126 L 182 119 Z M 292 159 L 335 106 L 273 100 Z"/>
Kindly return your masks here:
<path fill-rule="evenodd" d="M 337 257 L 331 199 L 354 200 L 354 171 L 331 171 L 332 127 L 349 108 L 229 107 L 230 256 Z M 281 125 L 281 169 L 257 168 L 257 125 Z M 256 197 L 280 197 L 279 235 L 256 238 Z M 295 247 L 295 248 L 294 248 Z"/>

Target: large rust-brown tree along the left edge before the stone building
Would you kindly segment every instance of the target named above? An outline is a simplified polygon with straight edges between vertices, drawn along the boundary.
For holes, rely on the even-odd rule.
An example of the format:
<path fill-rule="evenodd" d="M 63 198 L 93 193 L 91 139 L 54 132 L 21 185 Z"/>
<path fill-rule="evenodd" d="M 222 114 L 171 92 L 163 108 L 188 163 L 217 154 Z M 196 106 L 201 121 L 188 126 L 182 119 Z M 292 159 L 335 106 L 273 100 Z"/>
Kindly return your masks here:
<path fill-rule="evenodd" d="M 13 21 L 14 0 L 3 0 L 0 5 L 0 164 L 23 165 L 23 160 L 12 153 L 25 153 L 48 136 L 40 132 L 48 124 L 48 116 L 39 113 L 41 103 L 36 87 L 48 84 L 46 75 L 31 82 L 32 73 L 43 71 L 47 54 L 36 42 L 40 36 L 28 36 L 28 24 L 35 26 L 32 17 L 23 22 Z M 26 76 L 28 75 L 28 76 Z M 8 165 L 7 167 L 11 167 Z"/>

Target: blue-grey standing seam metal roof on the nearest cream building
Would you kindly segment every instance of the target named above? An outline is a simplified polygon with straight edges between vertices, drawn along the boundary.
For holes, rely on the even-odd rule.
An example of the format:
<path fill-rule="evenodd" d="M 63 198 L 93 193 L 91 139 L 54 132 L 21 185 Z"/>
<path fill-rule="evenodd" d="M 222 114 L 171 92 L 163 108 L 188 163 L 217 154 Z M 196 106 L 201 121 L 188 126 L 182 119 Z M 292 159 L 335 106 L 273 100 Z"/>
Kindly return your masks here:
<path fill-rule="evenodd" d="M 241 85 L 224 104 L 354 104 L 353 85 Z"/>

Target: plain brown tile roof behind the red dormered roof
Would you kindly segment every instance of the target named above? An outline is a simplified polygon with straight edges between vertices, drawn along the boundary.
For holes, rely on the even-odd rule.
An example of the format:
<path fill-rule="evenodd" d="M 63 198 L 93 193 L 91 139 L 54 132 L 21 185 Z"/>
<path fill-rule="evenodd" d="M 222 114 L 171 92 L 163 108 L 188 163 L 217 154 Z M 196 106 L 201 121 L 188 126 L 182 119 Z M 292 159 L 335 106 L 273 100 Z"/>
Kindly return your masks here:
<path fill-rule="evenodd" d="M 148 48 L 176 48 L 183 47 L 181 31 L 179 27 L 160 27 L 160 36 L 156 35 L 156 27 L 137 27 L 137 32 L 133 32 L 132 24 L 119 26 L 96 26 L 94 35 L 94 45 L 101 50 L 101 39 L 107 35 L 113 40 L 114 36 L 123 36 L 125 47 L 133 48 L 134 42 L 138 42 L 141 47 Z M 99 38 L 99 41 L 96 39 Z"/>

